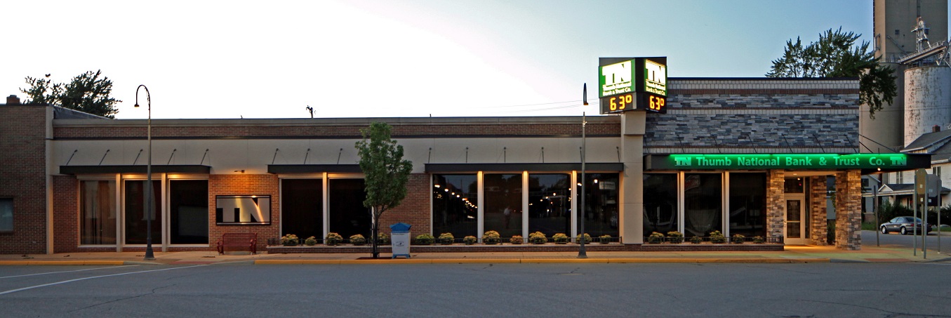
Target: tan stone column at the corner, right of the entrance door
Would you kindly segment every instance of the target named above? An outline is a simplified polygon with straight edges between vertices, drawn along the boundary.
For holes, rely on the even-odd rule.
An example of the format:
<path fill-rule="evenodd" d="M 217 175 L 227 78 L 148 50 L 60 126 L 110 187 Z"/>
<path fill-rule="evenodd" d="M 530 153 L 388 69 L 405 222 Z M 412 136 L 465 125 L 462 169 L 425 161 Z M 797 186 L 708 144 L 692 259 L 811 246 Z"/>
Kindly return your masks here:
<path fill-rule="evenodd" d="M 835 247 L 862 249 L 862 175 L 857 169 L 835 175 Z"/>

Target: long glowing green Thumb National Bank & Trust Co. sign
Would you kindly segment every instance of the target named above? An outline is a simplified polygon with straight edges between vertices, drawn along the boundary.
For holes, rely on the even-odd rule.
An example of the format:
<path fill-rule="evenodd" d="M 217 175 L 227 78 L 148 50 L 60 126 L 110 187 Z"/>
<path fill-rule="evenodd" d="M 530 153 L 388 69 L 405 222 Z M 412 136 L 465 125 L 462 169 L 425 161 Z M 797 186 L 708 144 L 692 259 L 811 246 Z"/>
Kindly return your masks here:
<path fill-rule="evenodd" d="M 931 164 L 927 154 L 906 153 L 668 154 L 650 155 L 649 161 L 649 169 L 916 169 Z"/>

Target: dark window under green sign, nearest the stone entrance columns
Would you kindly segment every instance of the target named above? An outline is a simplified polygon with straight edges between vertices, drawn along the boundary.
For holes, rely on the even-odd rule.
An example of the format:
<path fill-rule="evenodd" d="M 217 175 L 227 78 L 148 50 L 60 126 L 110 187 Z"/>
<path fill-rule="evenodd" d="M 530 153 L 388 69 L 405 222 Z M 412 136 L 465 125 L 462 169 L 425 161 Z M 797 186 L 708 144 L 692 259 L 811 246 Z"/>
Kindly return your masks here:
<path fill-rule="evenodd" d="M 767 236 L 767 174 L 729 174 L 729 234 Z"/>

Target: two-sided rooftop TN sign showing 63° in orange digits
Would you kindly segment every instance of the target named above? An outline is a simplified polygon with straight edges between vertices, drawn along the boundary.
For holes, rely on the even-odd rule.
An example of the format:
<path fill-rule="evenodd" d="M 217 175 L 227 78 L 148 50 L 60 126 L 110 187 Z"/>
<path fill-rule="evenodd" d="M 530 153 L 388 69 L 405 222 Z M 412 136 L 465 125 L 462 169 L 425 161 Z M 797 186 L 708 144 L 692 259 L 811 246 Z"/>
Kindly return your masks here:
<path fill-rule="evenodd" d="M 601 113 L 667 113 L 667 57 L 600 58 L 598 97 Z"/>

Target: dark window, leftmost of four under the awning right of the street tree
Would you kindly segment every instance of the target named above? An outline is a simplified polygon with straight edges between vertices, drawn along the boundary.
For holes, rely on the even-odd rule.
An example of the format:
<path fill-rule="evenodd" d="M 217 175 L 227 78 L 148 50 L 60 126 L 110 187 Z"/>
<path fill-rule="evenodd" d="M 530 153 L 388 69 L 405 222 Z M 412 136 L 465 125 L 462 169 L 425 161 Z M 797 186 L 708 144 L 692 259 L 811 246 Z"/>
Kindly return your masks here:
<path fill-rule="evenodd" d="M 453 233 L 456 237 L 476 233 L 478 226 L 478 183 L 476 174 L 433 175 L 433 234 Z"/>

